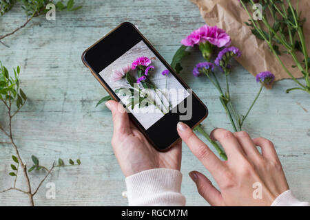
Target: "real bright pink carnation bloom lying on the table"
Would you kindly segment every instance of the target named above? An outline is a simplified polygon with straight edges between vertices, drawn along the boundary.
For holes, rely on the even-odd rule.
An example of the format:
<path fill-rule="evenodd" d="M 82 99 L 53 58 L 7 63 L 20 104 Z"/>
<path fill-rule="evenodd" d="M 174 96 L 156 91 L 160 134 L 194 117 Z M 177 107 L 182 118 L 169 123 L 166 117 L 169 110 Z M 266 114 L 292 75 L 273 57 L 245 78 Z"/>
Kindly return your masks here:
<path fill-rule="evenodd" d="M 200 43 L 209 43 L 216 45 L 217 47 L 228 47 L 231 43 L 230 36 L 217 26 L 203 25 L 201 28 L 194 30 L 192 34 L 189 34 L 181 43 L 185 46 L 193 47 Z"/>

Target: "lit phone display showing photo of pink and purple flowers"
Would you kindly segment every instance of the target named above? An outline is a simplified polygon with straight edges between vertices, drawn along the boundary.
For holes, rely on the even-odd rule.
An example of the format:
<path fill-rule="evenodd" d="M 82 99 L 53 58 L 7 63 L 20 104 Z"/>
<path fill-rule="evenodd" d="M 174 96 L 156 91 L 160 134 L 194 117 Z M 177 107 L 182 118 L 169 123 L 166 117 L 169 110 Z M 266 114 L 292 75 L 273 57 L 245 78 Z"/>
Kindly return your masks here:
<path fill-rule="evenodd" d="M 145 130 L 189 96 L 187 89 L 143 41 L 99 75 Z"/>

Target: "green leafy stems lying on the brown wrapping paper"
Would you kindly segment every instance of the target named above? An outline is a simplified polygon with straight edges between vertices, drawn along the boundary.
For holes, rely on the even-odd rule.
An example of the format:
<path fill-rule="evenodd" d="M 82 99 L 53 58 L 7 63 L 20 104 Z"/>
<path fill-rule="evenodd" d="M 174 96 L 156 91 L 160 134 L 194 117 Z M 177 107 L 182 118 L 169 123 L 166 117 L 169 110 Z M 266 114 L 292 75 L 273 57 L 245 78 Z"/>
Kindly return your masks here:
<path fill-rule="evenodd" d="M 292 90 L 302 90 L 310 94 L 310 65 L 307 62 L 309 61 L 309 55 L 303 30 L 306 19 L 302 18 L 297 8 L 293 7 L 291 0 L 260 0 L 259 3 L 262 5 L 262 19 L 260 21 L 255 21 L 251 17 L 253 12 L 251 8 L 255 4 L 253 0 L 242 0 L 240 3 L 250 19 L 245 24 L 251 28 L 251 32 L 258 39 L 267 42 L 269 49 L 276 56 L 285 72 L 299 85 L 299 89 L 287 89 L 287 93 Z M 298 60 L 298 52 L 302 53 L 303 61 Z M 300 83 L 289 72 L 285 66 L 286 64 L 281 61 L 280 55 L 282 54 L 289 54 L 291 56 L 292 61 L 296 64 L 292 67 L 298 67 L 298 70 L 304 75 L 305 84 Z"/>

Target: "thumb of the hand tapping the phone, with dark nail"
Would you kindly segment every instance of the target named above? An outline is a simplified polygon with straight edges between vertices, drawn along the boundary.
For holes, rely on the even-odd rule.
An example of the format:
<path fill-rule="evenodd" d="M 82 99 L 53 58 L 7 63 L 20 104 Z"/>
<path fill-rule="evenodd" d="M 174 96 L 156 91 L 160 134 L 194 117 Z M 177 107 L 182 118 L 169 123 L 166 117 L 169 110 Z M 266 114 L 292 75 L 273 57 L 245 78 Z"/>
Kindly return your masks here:
<path fill-rule="evenodd" d="M 199 194 L 211 206 L 222 206 L 222 194 L 212 185 L 211 181 L 205 175 L 198 171 L 192 171 L 189 173 L 189 177 L 195 182 Z"/>

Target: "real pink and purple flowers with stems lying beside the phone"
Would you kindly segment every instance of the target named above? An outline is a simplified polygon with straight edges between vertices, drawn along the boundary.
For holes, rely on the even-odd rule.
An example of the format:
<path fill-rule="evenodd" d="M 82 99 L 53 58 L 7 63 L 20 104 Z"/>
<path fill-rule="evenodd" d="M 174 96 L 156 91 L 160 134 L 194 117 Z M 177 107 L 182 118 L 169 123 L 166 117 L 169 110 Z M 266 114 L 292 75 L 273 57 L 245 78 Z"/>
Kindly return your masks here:
<path fill-rule="evenodd" d="M 264 85 L 269 85 L 273 82 L 274 76 L 271 72 L 261 72 L 256 76 L 256 81 L 260 83 L 260 89 L 258 90 L 258 94 L 254 98 L 249 110 L 245 115 L 240 115 L 234 109 L 234 104 L 231 102 L 230 89 L 229 89 L 229 75 L 231 73 L 231 65 L 229 65 L 229 61 L 231 58 L 241 56 L 241 52 L 236 47 L 231 47 L 231 39 L 229 35 L 220 28 L 214 26 L 203 25 L 203 27 L 194 30 L 191 34 L 189 34 L 185 39 L 181 41 L 183 44 L 176 54 L 174 55 L 172 67 L 176 69 L 177 72 L 180 72 L 182 69 L 180 65 L 180 60 L 188 54 L 186 51 L 187 47 L 198 47 L 203 58 L 205 58 L 206 62 L 198 63 L 193 69 L 193 75 L 198 77 L 202 74 L 207 76 L 208 80 L 214 85 L 214 87 L 218 90 L 219 100 L 225 109 L 229 121 L 231 122 L 231 126 L 234 131 L 242 131 L 242 125 L 244 124 L 247 116 L 249 115 L 251 109 L 253 108 L 256 100 L 260 96 L 260 93 L 264 87 Z M 214 48 L 222 48 L 218 53 L 214 62 L 211 62 L 211 56 L 214 53 Z M 216 71 L 215 67 L 218 67 L 219 71 Z M 223 72 L 226 78 L 226 87 L 223 89 L 223 86 L 220 85 L 217 75 L 219 72 Z M 199 131 L 203 134 L 209 142 L 216 148 L 220 157 L 223 159 L 227 159 L 225 152 L 216 142 L 210 139 L 207 132 L 203 130 L 203 128 L 198 125 L 196 127 L 196 131 Z"/>

